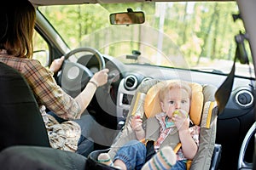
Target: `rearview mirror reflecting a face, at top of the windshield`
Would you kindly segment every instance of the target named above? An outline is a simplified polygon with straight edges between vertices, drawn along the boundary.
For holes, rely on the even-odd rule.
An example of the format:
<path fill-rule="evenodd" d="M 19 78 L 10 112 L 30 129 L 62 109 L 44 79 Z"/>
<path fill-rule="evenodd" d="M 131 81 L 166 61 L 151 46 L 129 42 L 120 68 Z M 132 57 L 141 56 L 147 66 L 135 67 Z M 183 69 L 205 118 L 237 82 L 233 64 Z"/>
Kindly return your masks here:
<path fill-rule="evenodd" d="M 112 25 L 131 25 L 131 24 L 143 24 L 145 21 L 145 15 L 142 11 L 138 12 L 124 12 L 114 13 L 109 15 L 110 24 Z"/>

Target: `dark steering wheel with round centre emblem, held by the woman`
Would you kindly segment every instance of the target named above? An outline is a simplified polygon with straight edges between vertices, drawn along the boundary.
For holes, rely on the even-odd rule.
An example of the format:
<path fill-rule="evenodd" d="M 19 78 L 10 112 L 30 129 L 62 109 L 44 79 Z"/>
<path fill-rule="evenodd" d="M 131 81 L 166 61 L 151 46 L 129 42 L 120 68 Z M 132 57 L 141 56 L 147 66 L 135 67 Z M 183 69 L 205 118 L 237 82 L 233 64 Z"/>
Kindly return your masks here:
<path fill-rule="evenodd" d="M 86 65 L 67 60 L 73 54 L 81 52 L 89 52 L 93 57 L 96 57 L 99 63 L 99 69 L 102 70 L 105 68 L 105 60 L 103 59 L 102 54 L 94 48 L 76 48 L 69 53 L 64 54 L 65 60 L 57 80 L 61 85 L 61 88 L 73 98 L 81 93 L 86 84 L 90 81 L 90 78 L 93 77 L 93 72 L 90 71 Z"/>

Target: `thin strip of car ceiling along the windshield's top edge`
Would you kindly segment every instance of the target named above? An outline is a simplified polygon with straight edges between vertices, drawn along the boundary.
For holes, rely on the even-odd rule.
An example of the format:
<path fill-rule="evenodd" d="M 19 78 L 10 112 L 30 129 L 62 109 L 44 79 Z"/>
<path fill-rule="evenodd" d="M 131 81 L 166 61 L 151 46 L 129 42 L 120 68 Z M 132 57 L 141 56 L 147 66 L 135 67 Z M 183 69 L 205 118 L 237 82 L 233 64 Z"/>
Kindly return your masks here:
<path fill-rule="evenodd" d="M 203 1 L 203 0 L 29 0 L 36 6 L 61 5 L 61 4 L 81 4 L 81 3 L 143 3 L 143 2 L 177 2 L 177 1 Z M 217 1 L 217 0 L 204 0 Z M 234 0 L 218 0 L 234 1 Z"/>

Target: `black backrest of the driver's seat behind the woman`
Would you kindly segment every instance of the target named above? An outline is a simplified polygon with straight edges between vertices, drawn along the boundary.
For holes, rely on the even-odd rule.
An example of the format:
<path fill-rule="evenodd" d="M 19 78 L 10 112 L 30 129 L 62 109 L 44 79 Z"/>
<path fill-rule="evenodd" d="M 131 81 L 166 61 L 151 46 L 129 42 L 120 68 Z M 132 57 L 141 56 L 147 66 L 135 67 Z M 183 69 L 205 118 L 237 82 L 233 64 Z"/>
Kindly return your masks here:
<path fill-rule="evenodd" d="M 0 151 L 12 145 L 50 147 L 44 121 L 26 79 L 0 62 Z"/>

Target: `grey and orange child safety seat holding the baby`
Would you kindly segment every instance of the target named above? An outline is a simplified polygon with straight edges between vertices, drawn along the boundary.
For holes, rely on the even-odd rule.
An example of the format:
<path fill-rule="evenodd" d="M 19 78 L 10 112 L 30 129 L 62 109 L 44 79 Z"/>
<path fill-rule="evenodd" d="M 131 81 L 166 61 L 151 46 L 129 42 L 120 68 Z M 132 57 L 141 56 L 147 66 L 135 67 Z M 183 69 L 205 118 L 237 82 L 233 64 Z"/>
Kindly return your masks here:
<path fill-rule="evenodd" d="M 116 169 L 98 163 L 97 156 L 102 152 L 108 152 L 113 158 L 122 145 L 132 139 L 136 139 L 136 135 L 131 129 L 131 116 L 140 115 L 143 117 L 143 122 L 146 122 L 148 117 L 160 113 L 158 92 L 165 83 L 171 81 L 178 80 L 148 80 L 137 88 L 137 93 L 131 101 L 131 110 L 128 113 L 125 126 L 113 142 L 113 145 L 109 150 L 96 150 L 90 153 L 86 167 L 90 167 L 89 169 Z M 212 85 L 201 85 L 195 82 L 189 82 L 189 85 L 192 88 L 189 116 L 195 125 L 201 127 L 201 132 L 199 149 L 194 160 L 189 161 L 187 164 L 187 169 L 217 169 L 221 154 L 221 145 L 215 144 L 218 108 L 214 94 L 217 88 Z M 181 144 L 177 144 L 173 150 L 177 151 L 180 147 L 182 147 Z"/>

